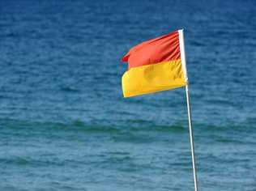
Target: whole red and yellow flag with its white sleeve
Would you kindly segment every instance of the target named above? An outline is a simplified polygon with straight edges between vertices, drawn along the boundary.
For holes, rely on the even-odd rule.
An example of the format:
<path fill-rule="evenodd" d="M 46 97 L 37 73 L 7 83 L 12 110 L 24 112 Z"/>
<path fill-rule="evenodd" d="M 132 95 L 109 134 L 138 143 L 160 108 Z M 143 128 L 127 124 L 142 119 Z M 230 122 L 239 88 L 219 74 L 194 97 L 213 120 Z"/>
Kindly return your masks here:
<path fill-rule="evenodd" d="M 184 87 L 188 83 L 183 30 L 147 40 L 122 57 L 124 97 Z"/>

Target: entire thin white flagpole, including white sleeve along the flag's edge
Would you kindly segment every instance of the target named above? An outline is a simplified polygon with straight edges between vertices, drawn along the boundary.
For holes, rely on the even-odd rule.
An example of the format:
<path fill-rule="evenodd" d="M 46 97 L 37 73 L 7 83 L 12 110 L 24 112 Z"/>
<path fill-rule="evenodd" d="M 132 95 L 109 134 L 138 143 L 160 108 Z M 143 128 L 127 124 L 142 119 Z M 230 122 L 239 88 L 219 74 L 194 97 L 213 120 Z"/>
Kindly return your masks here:
<path fill-rule="evenodd" d="M 190 147 L 191 147 L 191 157 L 192 157 L 192 167 L 193 167 L 193 175 L 194 175 L 194 191 L 198 191 L 198 179 L 197 179 L 197 171 L 195 167 L 195 159 L 194 159 L 194 140 L 193 140 L 193 129 L 192 129 L 192 120 L 191 120 L 191 109 L 190 109 L 190 91 L 189 91 L 189 81 L 186 73 L 186 53 L 184 46 L 184 36 L 183 29 L 178 30 L 179 32 L 179 41 L 180 41 L 180 50 L 181 50 L 181 64 L 182 69 L 186 78 L 186 105 L 188 110 L 188 119 L 189 119 L 189 129 L 190 129 Z"/>

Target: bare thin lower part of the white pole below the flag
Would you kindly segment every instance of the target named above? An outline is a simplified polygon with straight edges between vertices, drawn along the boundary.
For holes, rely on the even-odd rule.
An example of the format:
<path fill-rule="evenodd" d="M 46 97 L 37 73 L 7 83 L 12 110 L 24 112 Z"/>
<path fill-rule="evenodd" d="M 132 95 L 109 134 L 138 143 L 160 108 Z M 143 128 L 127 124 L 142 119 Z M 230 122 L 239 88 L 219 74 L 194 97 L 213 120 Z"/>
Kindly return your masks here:
<path fill-rule="evenodd" d="M 193 167 L 193 175 L 194 175 L 194 191 L 198 191 L 198 178 L 197 171 L 195 167 L 195 159 L 194 159 L 194 140 L 193 140 L 193 129 L 192 129 L 192 120 L 191 120 L 191 108 L 190 108 L 190 91 L 189 85 L 186 85 L 186 105 L 188 109 L 188 118 L 189 118 L 189 129 L 190 129 L 190 147 L 191 147 L 191 158 L 192 158 L 192 167 Z"/>

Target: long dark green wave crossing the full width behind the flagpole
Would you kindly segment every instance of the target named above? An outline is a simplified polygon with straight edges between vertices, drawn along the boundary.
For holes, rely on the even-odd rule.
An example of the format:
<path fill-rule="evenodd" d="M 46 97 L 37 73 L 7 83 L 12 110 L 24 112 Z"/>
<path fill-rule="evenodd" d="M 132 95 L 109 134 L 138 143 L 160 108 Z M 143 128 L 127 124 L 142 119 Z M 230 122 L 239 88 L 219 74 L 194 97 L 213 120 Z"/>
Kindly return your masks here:
<path fill-rule="evenodd" d="M 198 134 L 220 134 L 223 133 L 251 133 L 255 129 L 255 118 L 248 118 L 242 123 L 230 121 L 223 125 L 209 125 L 207 123 L 194 123 L 194 131 Z M 19 120 L 12 118 L 0 118 L 0 131 L 6 129 L 15 130 L 51 130 L 51 131 L 79 131 L 91 134 L 124 134 L 139 132 L 158 132 L 183 134 L 188 131 L 185 122 L 173 125 L 156 124 L 154 121 L 146 120 L 122 120 L 122 121 L 80 121 L 80 120 L 63 120 L 63 121 L 32 121 Z M 225 139 L 220 138 L 220 142 Z"/>

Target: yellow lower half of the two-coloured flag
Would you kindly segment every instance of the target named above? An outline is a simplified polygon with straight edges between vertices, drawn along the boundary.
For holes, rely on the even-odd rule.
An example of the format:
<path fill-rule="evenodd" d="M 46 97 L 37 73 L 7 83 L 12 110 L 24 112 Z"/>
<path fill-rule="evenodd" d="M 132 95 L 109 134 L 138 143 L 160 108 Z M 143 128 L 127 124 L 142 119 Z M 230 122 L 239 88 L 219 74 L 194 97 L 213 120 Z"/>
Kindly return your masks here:
<path fill-rule="evenodd" d="M 122 76 L 124 97 L 186 86 L 181 60 L 134 67 Z"/>

